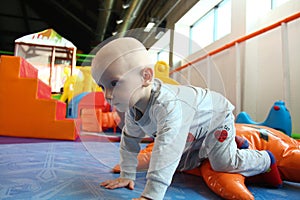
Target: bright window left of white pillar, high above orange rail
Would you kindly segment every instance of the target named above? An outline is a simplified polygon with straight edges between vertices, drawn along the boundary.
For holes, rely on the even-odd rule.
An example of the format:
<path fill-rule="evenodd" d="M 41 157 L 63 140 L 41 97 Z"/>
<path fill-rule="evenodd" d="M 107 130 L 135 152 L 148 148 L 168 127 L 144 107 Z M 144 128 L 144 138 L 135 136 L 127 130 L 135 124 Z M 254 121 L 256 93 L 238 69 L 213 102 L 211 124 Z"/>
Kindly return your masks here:
<path fill-rule="evenodd" d="M 190 26 L 190 54 L 231 32 L 231 0 L 223 0 Z"/>

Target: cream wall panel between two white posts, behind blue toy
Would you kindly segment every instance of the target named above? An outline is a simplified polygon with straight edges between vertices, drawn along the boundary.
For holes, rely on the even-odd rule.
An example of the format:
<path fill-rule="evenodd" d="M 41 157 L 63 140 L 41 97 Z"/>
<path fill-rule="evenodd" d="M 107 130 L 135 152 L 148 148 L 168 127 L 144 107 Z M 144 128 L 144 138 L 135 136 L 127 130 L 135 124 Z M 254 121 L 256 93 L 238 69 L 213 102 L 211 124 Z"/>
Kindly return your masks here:
<path fill-rule="evenodd" d="M 285 100 L 280 41 L 277 28 L 246 44 L 242 109 L 258 121 L 266 118 L 274 101 Z"/>

